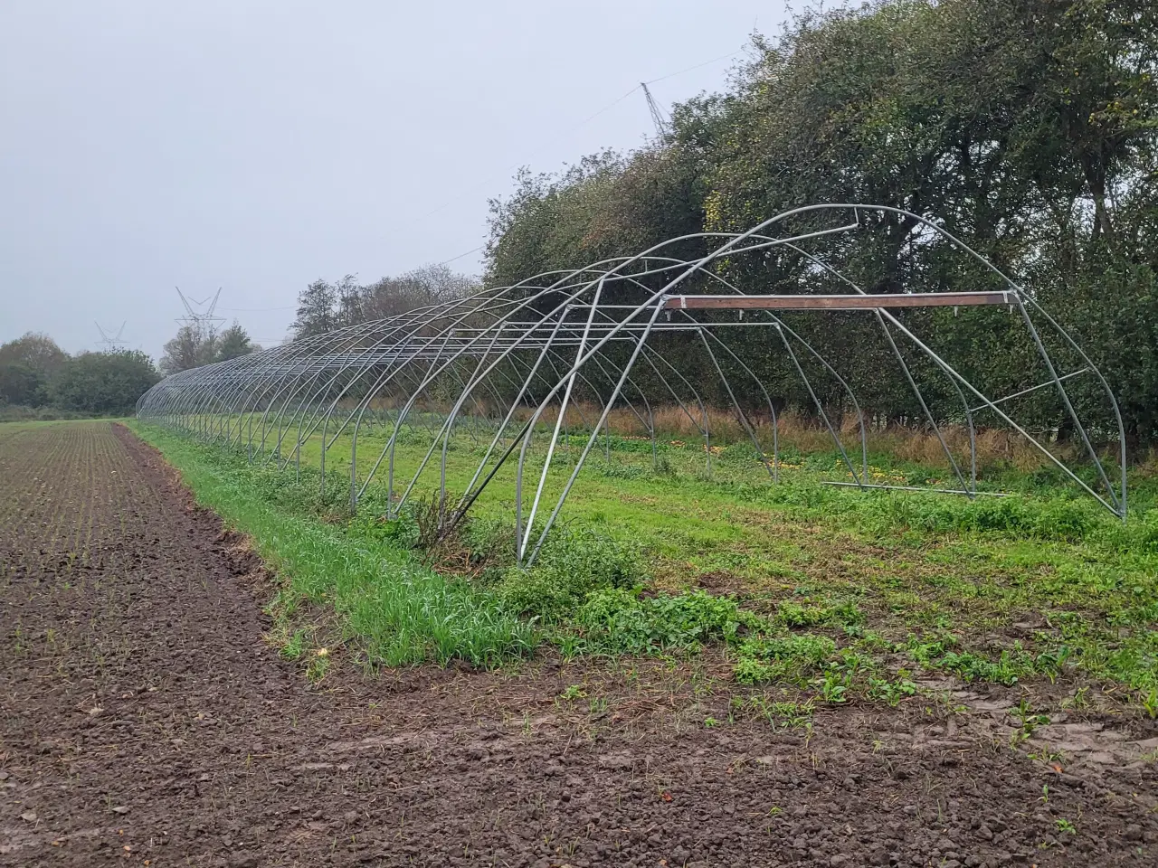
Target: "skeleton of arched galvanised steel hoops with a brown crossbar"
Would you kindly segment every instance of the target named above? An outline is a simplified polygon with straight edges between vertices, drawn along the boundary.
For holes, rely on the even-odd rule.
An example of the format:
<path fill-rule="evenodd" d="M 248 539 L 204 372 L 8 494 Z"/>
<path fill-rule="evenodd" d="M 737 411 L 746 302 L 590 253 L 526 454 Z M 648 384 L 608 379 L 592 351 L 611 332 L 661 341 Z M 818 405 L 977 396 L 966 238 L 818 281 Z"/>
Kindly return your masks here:
<path fill-rule="evenodd" d="M 894 214 L 915 221 L 939 243 L 960 251 L 980 264 L 1001 286 L 997 292 L 889 293 L 868 294 L 828 260 L 823 251 L 807 249 L 821 240 L 840 240 L 850 233 L 868 230 L 867 214 Z M 809 218 L 819 221 L 797 234 L 774 230 L 791 221 Z M 698 259 L 672 256 L 680 244 L 711 245 Z M 767 259 L 774 251 L 799 257 L 807 264 L 812 282 L 820 278 L 836 281 L 851 290 L 826 295 L 807 285 L 796 295 L 754 295 L 741 290 L 726 277 L 727 266 L 746 258 Z M 813 279 L 814 278 L 814 279 Z M 698 294 L 695 294 L 698 293 Z M 614 296 L 614 300 L 609 300 Z M 871 299 L 871 301 L 870 301 Z M 1003 397 L 990 398 L 918 336 L 911 323 L 899 318 L 893 308 L 1004 306 L 1025 329 L 1029 346 L 1046 372 L 1038 382 Z M 711 311 L 738 311 L 736 321 L 712 318 Z M 833 485 L 859 488 L 902 487 L 870 481 L 866 417 L 856 390 L 840 373 L 840 359 L 828 359 L 804 336 L 789 326 L 782 311 L 826 310 L 863 311 L 874 318 L 893 359 L 913 392 L 925 425 L 935 435 L 957 481 L 955 488 L 936 488 L 977 496 L 989 492 L 977 488 L 977 443 L 975 414 L 990 412 L 996 419 L 1028 441 L 1071 483 L 1108 510 L 1127 516 L 1126 434 L 1121 412 L 1108 382 L 1073 338 L 1034 299 L 992 263 L 946 231 L 936 222 L 911 212 L 881 205 L 809 205 L 778 214 L 746 233 L 697 233 L 670 238 L 635 256 L 617 257 L 576 269 L 536 274 L 519 284 L 493 287 L 462 299 L 449 299 L 427 307 L 358 325 L 336 329 L 293 343 L 271 347 L 229 361 L 175 374 L 161 381 L 137 405 L 140 419 L 219 443 L 226 449 L 244 449 L 252 462 L 273 462 L 279 470 L 300 473 L 302 448 L 318 449 L 321 485 L 325 484 L 327 455 L 338 449 L 331 464 L 349 465 L 350 505 L 356 507 L 371 485 L 382 485 L 388 515 L 396 515 L 422 490 L 422 479 L 437 468 L 440 520 L 453 527 L 494 483 L 499 470 L 514 463 L 513 524 L 520 562 L 532 564 L 549 535 L 600 432 L 609 437 L 609 415 L 617 406 L 629 410 L 651 440 L 657 459 L 657 432 L 653 406 L 676 406 L 704 437 L 708 471 L 711 472 L 711 427 L 706 402 L 681 372 L 680 365 L 648 338 L 667 336 L 668 341 L 695 344 L 706 358 L 731 410 L 750 439 L 772 483 L 780 478 L 780 455 L 776 400 L 755 373 L 743 350 L 725 340 L 733 329 L 762 329 L 771 340 L 769 353 L 784 365 L 809 396 L 812 410 L 821 420 L 852 480 Z M 745 318 L 745 312 L 752 316 Z M 705 318 L 706 317 L 706 318 Z M 1035 319 L 1038 322 L 1035 322 Z M 1041 328 L 1039 328 L 1041 323 Z M 1042 331 L 1041 329 L 1045 329 Z M 1080 362 L 1076 370 L 1062 372 L 1043 336 L 1061 340 L 1064 352 Z M 899 338 L 928 360 L 948 382 L 960 410 L 940 415 L 922 391 L 918 376 L 906 361 Z M 778 348 L 778 350 L 777 350 Z M 761 446 L 755 425 L 745 412 L 738 391 L 727 375 L 724 360 L 740 370 L 752 393 L 752 383 L 768 406 L 772 428 L 772 454 Z M 642 376 L 633 376 L 632 372 Z M 1032 372 L 1027 372 L 1027 375 Z M 1112 410 L 1114 432 L 1102 432 L 1101 440 L 1113 440 L 1117 468 L 1107 463 L 1080 418 L 1067 382 L 1090 375 Z M 833 384 L 852 409 L 859 439 L 858 461 L 849 455 L 840 426 L 830 418 L 831 407 L 821 399 L 815 377 L 830 389 Z M 648 393 L 648 389 L 651 392 Z M 1043 434 L 1033 434 L 1014 418 L 1007 402 L 1051 389 L 1063 415 L 1077 434 L 1083 463 L 1092 466 L 1097 480 L 1087 483 L 1068 459 L 1050 450 Z M 587 419 L 578 405 L 582 393 L 595 403 L 598 419 Z M 1003 406 L 1004 405 L 1004 406 Z M 698 413 L 697 413 L 698 410 Z M 548 411 L 554 420 L 545 424 Z M 558 465 L 560 434 L 570 431 L 570 414 L 578 413 L 586 442 L 577 459 L 570 461 L 562 491 L 555 503 L 540 516 L 550 471 Z M 946 418 L 963 418 L 968 434 L 968 468 L 959 461 L 943 431 Z M 358 455 L 359 436 L 372 426 L 386 437 L 376 456 Z M 456 432 L 463 431 L 481 451 L 469 483 L 462 491 L 448 493 L 447 459 Z M 484 434 L 485 432 L 485 434 Z M 482 436 L 481 436 L 482 435 Z M 397 446 L 424 448 L 417 469 L 396 491 Z M 545 440 L 540 450 L 535 439 Z M 570 435 L 563 437 L 570 443 Z M 609 442 L 609 440 L 607 441 Z M 343 453 L 347 444 L 349 453 Z M 483 443 L 486 443 L 483 448 Z M 375 442 L 375 446 L 378 443 Z M 608 447 L 609 448 L 609 447 Z M 438 456 L 437 458 L 434 456 Z M 528 459 L 542 462 L 537 479 L 525 485 Z M 379 479 L 383 476 L 384 481 Z M 1112 478 L 1112 472 L 1115 478 Z M 563 478 L 563 477 L 560 477 Z M 525 505 L 525 491 L 529 503 Z M 554 496 L 554 495 L 552 495 Z"/>

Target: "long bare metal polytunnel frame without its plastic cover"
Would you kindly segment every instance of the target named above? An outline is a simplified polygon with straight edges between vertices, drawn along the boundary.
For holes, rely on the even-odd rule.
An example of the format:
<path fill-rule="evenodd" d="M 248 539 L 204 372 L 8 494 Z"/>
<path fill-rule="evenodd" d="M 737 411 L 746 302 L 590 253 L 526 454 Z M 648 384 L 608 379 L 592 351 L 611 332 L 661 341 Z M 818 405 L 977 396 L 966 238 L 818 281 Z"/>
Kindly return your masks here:
<path fill-rule="evenodd" d="M 806 231 L 800 235 L 789 237 L 776 237 L 765 234 L 771 227 L 784 222 L 791 218 L 805 214 L 820 214 L 829 212 L 851 212 L 851 222 L 835 227 L 823 228 L 814 231 Z M 953 299 L 948 296 L 953 293 L 931 293 L 925 301 L 918 299 L 919 294 L 870 294 L 855 281 L 841 273 L 829 263 L 819 256 L 804 250 L 800 244 L 812 238 L 842 234 L 863 228 L 862 213 L 894 214 L 916 221 L 917 225 L 931 229 L 936 235 L 946 240 L 954 249 L 965 252 L 968 257 L 980 263 L 984 269 L 995 274 L 1006 287 L 1001 292 L 999 303 L 1007 304 L 1010 311 L 1014 309 L 1020 315 L 1025 324 L 1038 355 L 1043 363 L 1048 378 L 1028 389 L 1013 392 L 996 399 L 990 399 L 980 389 L 961 375 L 916 333 L 904 325 L 891 312 L 891 307 L 922 307 L 925 301 L 929 304 L 946 306 Z M 672 245 L 688 241 L 721 241 L 714 250 L 694 260 L 680 259 L 664 255 L 664 250 Z M 823 274 L 833 277 L 843 282 L 853 295 L 816 296 L 809 293 L 782 296 L 757 296 L 743 293 L 720 273 L 709 269 L 712 263 L 719 262 L 724 257 L 739 256 L 756 251 L 768 251 L 774 248 L 784 248 L 801 256 L 804 259 L 816 266 Z M 643 266 L 642 271 L 630 271 L 632 267 Z M 653 267 L 655 266 L 655 267 Z M 652 289 L 644 285 L 645 278 L 660 277 L 666 282 L 659 289 Z M 669 279 L 668 279 L 669 278 Z M 692 278 L 704 278 L 709 285 L 721 286 L 726 292 L 720 295 L 683 295 L 677 292 L 681 285 Z M 603 290 L 609 285 L 622 285 L 643 290 L 646 299 L 635 306 L 632 304 L 606 304 L 601 303 Z M 960 295 L 960 294 L 958 294 Z M 584 300 L 589 296 L 588 300 Z M 865 297 L 878 301 L 879 304 L 865 303 Z M 932 297 L 943 296 L 943 297 Z M 820 299 L 830 299 L 828 307 L 814 303 Z M 696 321 L 689 312 L 688 302 L 691 301 L 690 310 L 696 309 L 725 309 L 738 310 L 741 321 L 738 323 Z M 812 300 L 812 301 L 808 301 Z M 856 300 L 856 301 L 853 301 Z M 555 302 L 555 307 L 543 312 L 540 308 L 543 303 Z M 973 303 L 973 302 L 969 302 Z M 977 303 L 998 303 L 996 299 L 990 299 Z M 843 307 L 842 307 L 843 306 Z M 356 507 L 358 499 L 365 494 L 367 486 L 374 479 L 381 464 L 387 462 L 387 510 L 388 515 L 396 515 L 402 509 L 406 499 L 415 490 L 420 476 L 441 446 L 440 470 L 439 470 L 439 520 L 447 528 L 453 527 L 475 500 L 483 488 L 494 479 L 498 470 L 512 457 L 515 448 L 519 450 L 518 468 L 515 473 L 515 549 L 520 562 L 532 564 L 538 554 L 543 542 L 555 524 L 567 495 L 574 485 L 584 463 L 586 462 L 593 446 L 598 442 L 600 429 L 609 437 L 608 417 L 617 403 L 626 403 L 636 417 L 644 422 L 643 414 L 636 409 L 625 392 L 625 387 L 630 387 L 638 392 L 642 399 L 647 421 L 645 427 L 652 441 L 653 462 L 655 461 L 655 426 L 647 395 L 630 376 L 636 363 L 643 359 L 655 375 L 664 388 L 676 399 L 682 412 L 695 422 L 695 417 L 680 398 L 674 388 L 672 377 L 666 376 L 657 362 L 664 365 L 670 374 L 674 374 L 682 384 L 686 385 L 699 404 L 703 425 L 699 427 L 705 439 L 706 461 L 709 471 L 711 469 L 711 446 L 710 425 L 708 421 L 706 406 L 695 387 L 687 377 L 680 373 L 679 368 L 664 358 L 662 353 L 647 345 L 647 339 L 652 334 L 665 332 L 694 332 L 702 341 L 703 347 L 711 360 L 716 375 L 724 384 L 732 409 L 740 419 L 741 427 L 752 439 L 756 453 L 768 469 L 772 481 L 779 480 L 779 442 L 778 424 L 776 420 L 775 402 L 768 393 L 767 388 L 755 375 L 748 365 L 728 347 L 728 345 L 714 333 L 716 329 L 725 326 L 741 328 L 770 328 L 780 339 L 784 350 L 784 358 L 790 360 L 792 367 L 798 373 L 807 390 L 819 418 L 831 436 L 841 459 L 849 469 L 849 475 L 853 481 L 840 483 L 826 480 L 831 485 L 851 485 L 859 488 L 911 488 L 913 486 L 888 486 L 868 483 L 867 473 L 867 434 L 865 428 L 865 417 L 860 411 L 855 390 L 840 375 L 836 367 L 823 358 L 807 340 L 798 332 L 790 329 L 786 323 L 778 317 L 774 310 L 802 310 L 802 309 L 826 309 L 826 310 L 863 310 L 871 312 L 881 328 L 881 332 L 887 339 L 888 347 L 897 361 L 904 380 L 914 392 L 921 412 L 925 421 L 932 429 L 941 450 L 948 459 L 953 476 L 957 478 L 960 488 L 936 488 L 933 491 L 945 491 L 948 493 L 976 496 L 987 492 L 977 491 L 976 487 L 976 428 L 974 413 L 982 410 L 991 410 L 1002 421 L 1013 431 L 1028 440 L 1042 453 L 1047 459 L 1056 465 L 1069 479 L 1075 481 L 1086 493 L 1097 499 L 1102 506 L 1119 515 L 1123 521 L 1127 516 L 1127 455 L 1126 435 L 1122 425 L 1121 412 L 1117 400 L 1113 395 L 1109 384 L 1090 360 L 1089 355 L 1073 340 L 1073 338 L 1051 317 L 1021 286 L 1016 284 L 997 266 L 982 257 L 977 251 L 962 242 L 960 238 L 940 227 L 936 222 L 909 211 L 882 205 L 860 204 L 818 204 L 808 205 L 777 214 L 769 220 L 758 223 L 746 233 L 695 233 L 675 238 L 669 238 L 640 253 L 631 257 L 615 257 L 601 260 L 591 265 L 574 269 L 544 272 L 542 274 L 527 278 L 519 284 L 496 289 L 483 290 L 464 299 L 442 300 L 419 309 L 398 314 L 393 317 L 346 326 L 324 334 L 314 336 L 291 344 L 273 347 L 248 356 L 196 368 L 181 374 L 167 377 L 156 387 L 149 390 L 140 402 L 138 402 L 138 415 L 142 419 L 153 419 L 161 424 L 176 428 L 190 431 L 201 437 L 207 437 L 213 442 L 222 441 L 226 448 L 240 447 L 242 440 L 245 441 L 245 449 L 249 459 L 255 459 L 255 415 L 261 413 L 259 440 L 256 443 L 258 455 L 265 454 L 263 461 L 274 459 L 278 469 L 288 465 L 288 458 L 283 463 L 283 443 L 287 435 L 291 435 L 293 446 L 295 472 L 300 473 L 301 448 L 309 440 L 318 426 L 322 428 L 321 440 L 321 485 L 325 484 L 325 455 L 327 451 L 338 441 L 351 422 L 351 454 L 350 454 L 350 502 Z M 1061 336 L 1065 346 L 1073 351 L 1084 363 L 1078 370 L 1058 374 L 1042 337 L 1033 322 L 1031 309 L 1035 315 L 1048 324 L 1048 326 Z M 742 322 L 745 310 L 753 310 L 755 317 L 748 323 Z M 613 316 L 613 311 L 618 318 Z M 668 314 L 668 322 L 660 323 L 661 312 Z M 528 318 L 516 318 L 533 314 Z M 566 319 L 574 312 L 586 314 L 584 322 L 567 323 Z M 680 321 L 670 323 L 672 314 L 676 312 Z M 535 319 L 534 315 L 538 315 Z M 763 315 L 761 317 L 761 315 Z M 476 324 L 468 324 L 475 321 Z M 483 321 L 483 322 L 477 322 Z M 464 325 L 467 324 L 467 325 Z M 936 415 L 921 391 L 910 366 L 906 362 L 904 355 L 897 346 L 894 330 L 907 338 L 915 346 L 919 354 L 931 360 L 935 368 L 939 370 L 952 384 L 957 398 L 962 405 L 965 413 L 968 439 L 969 439 L 969 469 L 968 479 L 965 471 L 958 463 L 950 448 Z M 461 336 L 460 331 L 474 332 L 472 336 Z M 547 332 L 544 334 L 544 332 Z M 629 358 L 624 363 L 618 363 L 608 356 L 603 351 L 611 341 L 626 341 L 632 345 Z M 840 383 L 843 392 L 849 397 L 855 409 L 856 419 L 860 434 L 860 472 L 853 466 L 841 436 L 834 428 L 831 420 L 826 413 L 823 403 L 816 395 L 812 382 L 805 372 L 793 341 L 802 347 L 807 354 L 818 362 L 827 375 Z M 772 459 L 768 461 L 763 448 L 758 442 L 753 426 L 750 425 L 740 402 L 736 399 L 732 383 L 725 375 L 719 363 L 719 359 L 712 350 L 717 345 L 723 350 L 731 361 L 750 376 L 760 387 L 764 399 L 768 403 L 772 420 Z M 574 348 L 574 361 L 566 367 L 565 352 Z M 510 363 L 511 370 L 516 372 L 515 361 L 521 358 L 522 351 L 536 352 L 534 363 L 529 365 L 529 372 L 523 376 L 521 383 L 512 378 L 511 373 L 501 369 L 501 366 Z M 474 360 L 474 368 L 463 376 L 460 362 Z M 548 367 L 554 375 L 554 385 L 543 393 L 533 395 L 532 384 L 540 382 L 543 362 L 547 360 Z M 525 360 L 523 360 L 525 361 Z M 560 375 L 556 361 L 563 362 L 564 373 Z M 600 389 L 594 388 L 584 374 L 584 367 L 591 363 L 593 368 L 599 368 L 600 373 L 614 387 L 609 397 L 604 399 Z M 609 370 L 610 369 L 610 370 Z M 506 402 L 499 395 L 490 377 L 499 372 L 506 384 L 516 387 L 515 397 Z M 1121 470 L 1119 481 L 1120 491 L 1115 491 L 1109 476 L 1094 448 L 1090 435 L 1082 424 L 1079 414 L 1065 390 L 1064 381 L 1080 374 L 1092 374 L 1113 409 L 1114 419 L 1117 425 L 1117 459 Z M 364 382 L 364 377 L 369 374 L 374 376 L 372 383 Z M 614 375 L 613 375 L 614 374 Z M 435 432 L 427 426 L 427 432 L 432 434 L 430 448 L 413 478 L 405 486 L 401 498 L 394 496 L 395 475 L 395 446 L 403 425 L 411 424 L 408 419 L 411 411 L 419 402 L 420 396 L 427 392 L 444 375 L 448 375 L 456 381 L 457 398 L 454 400 L 449 412 L 445 414 L 441 426 Z M 540 377 L 540 380 L 536 380 Z M 591 427 L 591 434 L 584 446 L 578 461 L 574 462 L 572 471 L 563 486 L 554 508 L 542 524 L 537 539 L 532 546 L 533 529 L 540 510 L 542 496 L 547 486 L 549 470 L 556 453 L 560 428 L 566 425 L 567 410 L 574 404 L 572 395 L 577 382 L 586 381 L 588 390 L 595 396 L 600 405 L 600 417 Z M 551 380 L 545 381 L 548 384 Z M 379 454 L 366 475 L 365 480 L 359 485 L 357 443 L 358 432 L 367 410 L 373 405 L 379 396 L 389 396 L 394 392 L 388 388 L 402 385 L 401 396 L 404 403 L 395 410 L 387 409 L 386 417 L 390 420 L 391 431 L 386 446 Z M 1039 442 L 1028 431 L 1019 425 L 1010 414 L 998 405 L 1012 398 L 1017 398 L 1029 392 L 1047 389 L 1053 385 L 1065 414 L 1072 422 L 1085 453 L 1097 469 L 1101 485 L 1105 487 L 1108 500 L 1083 479 L 1080 479 L 1064 462 L 1054 455 L 1043 443 Z M 494 427 L 491 439 L 482 461 L 474 476 L 467 485 L 466 491 L 459 499 L 455 507 L 446 510 L 447 498 L 447 451 L 449 441 L 455 431 L 455 421 L 460 417 L 468 400 L 479 411 L 474 419 L 479 415 L 486 417 L 486 411 L 476 396 L 476 389 L 483 390 L 483 400 L 486 399 L 486 391 L 497 398 L 496 406 L 506 406 L 501 422 Z M 353 390 L 353 391 L 352 391 Z M 349 410 L 342 409 L 342 402 L 354 392 L 360 395 L 357 403 Z M 970 407 L 967 392 L 981 403 Z M 513 433 L 505 451 L 498 455 L 490 472 L 483 477 L 488 464 L 496 456 L 496 450 L 504 441 L 504 436 L 511 428 L 525 398 L 529 398 L 534 407 L 529 418 Z M 390 398 L 388 398 L 390 400 Z M 294 403 L 296 402 L 296 403 Z M 523 517 L 523 476 L 527 464 L 527 456 L 532 439 L 536 434 L 536 425 L 549 406 L 558 403 L 558 414 L 550 433 L 550 441 L 547 447 L 547 457 L 540 471 L 540 478 L 535 486 L 530 507 Z M 273 412 L 272 419 L 271 412 Z M 580 411 L 581 412 L 581 411 Z M 395 414 L 396 413 L 396 414 Z M 213 419 L 217 414 L 219 418 Z M 330 422 L 335 414 L 345 417 L 344 421 L 337 426 L 336 432 L 330 436 Z M 422 413 L 418 413 L 419 421 L 425 425 Z M 234 421 L 236 431 L 234 432 Z M 283 422 L 286 422 L 283 427 Z M 337 420 L 335 420 L 337 421 Z M 214 426 L 215 422 L 215 426 Z M 296 426 L 295 426 L 296 422 Z M 272 446 L 266 449 L 266 439 L 272 425 L 277 426 L 276 439 Z M 215 427 L 215 431 L 214 431 Z M 474 434 L 471 434 L 474 436 Z M 235 442 L 236 439 L 236 442 Z M 482 480 L 479 481 L 479 478 Z M 928 490 L 928 488 L 917 488 Z"/>

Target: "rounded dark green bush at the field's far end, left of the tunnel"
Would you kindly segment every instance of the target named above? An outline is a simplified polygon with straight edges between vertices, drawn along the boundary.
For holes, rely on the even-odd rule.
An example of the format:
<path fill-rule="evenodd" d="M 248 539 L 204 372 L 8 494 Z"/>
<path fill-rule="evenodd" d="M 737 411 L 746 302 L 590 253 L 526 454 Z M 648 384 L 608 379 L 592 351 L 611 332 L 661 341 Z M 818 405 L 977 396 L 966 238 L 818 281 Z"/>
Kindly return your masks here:
<path fill-rule="evenodd" d="M 139 350 L 81 353 L 56 373 L 50 393 L 61 410 L 127 415 L 159 380 L 153 361 Z"/>

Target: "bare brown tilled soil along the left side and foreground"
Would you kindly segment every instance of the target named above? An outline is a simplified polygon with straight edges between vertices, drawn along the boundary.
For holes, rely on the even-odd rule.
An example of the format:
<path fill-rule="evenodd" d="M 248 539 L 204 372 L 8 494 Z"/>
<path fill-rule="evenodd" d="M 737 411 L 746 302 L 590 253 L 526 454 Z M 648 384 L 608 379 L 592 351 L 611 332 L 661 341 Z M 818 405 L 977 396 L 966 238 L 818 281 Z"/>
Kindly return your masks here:
<path fill-rule="evenodd" d="M 124 429 L 0 427 L 0 865 L 1158 865 L 1153 763 L 916 707 L 806 738 L 580 713 L 552 663 L 313 687 L 257 567 Z"/>

